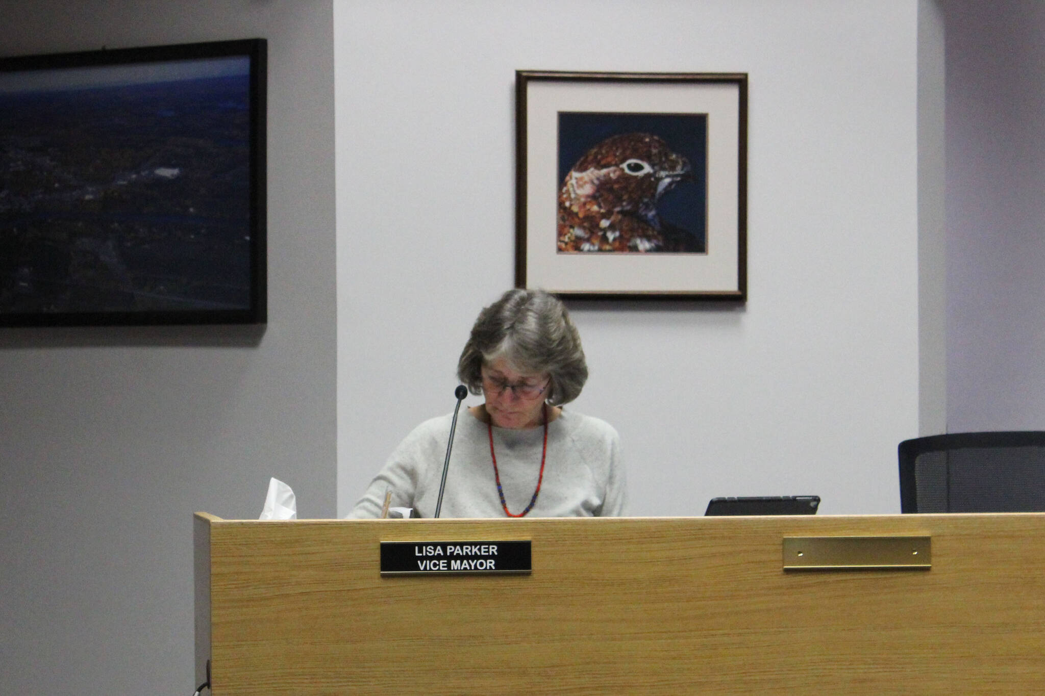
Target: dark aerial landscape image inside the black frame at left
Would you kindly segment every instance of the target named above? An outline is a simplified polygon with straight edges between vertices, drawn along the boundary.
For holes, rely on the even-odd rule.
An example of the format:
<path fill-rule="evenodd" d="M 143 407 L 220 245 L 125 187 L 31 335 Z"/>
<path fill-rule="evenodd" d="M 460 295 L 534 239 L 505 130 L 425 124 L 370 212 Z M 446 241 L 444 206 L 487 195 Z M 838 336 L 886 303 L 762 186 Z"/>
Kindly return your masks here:
<path fill-rule="evenodd" d="M 0 72 L 0 314 L 248 309 L 249 73 Z"/>

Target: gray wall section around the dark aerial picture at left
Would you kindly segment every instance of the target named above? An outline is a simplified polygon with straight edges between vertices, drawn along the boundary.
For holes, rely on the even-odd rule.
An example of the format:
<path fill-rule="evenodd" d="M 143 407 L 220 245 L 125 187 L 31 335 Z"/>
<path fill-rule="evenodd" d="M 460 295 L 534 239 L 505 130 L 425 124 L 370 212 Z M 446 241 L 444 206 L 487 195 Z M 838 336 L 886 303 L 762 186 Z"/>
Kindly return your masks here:
<path fill-rule="evenodd" d="M 0 330 L 0 692 L 191 694 L 195 510 L 333 517 L 329 2 L 0 2 L 0 54 L 269 40 L 269 323 Z"/>

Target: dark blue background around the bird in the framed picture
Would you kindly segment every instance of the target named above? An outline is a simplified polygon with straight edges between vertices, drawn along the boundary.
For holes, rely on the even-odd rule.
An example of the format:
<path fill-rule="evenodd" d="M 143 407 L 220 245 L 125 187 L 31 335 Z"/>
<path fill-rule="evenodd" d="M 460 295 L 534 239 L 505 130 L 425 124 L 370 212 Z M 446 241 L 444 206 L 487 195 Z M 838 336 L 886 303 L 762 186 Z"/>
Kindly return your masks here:
<path fill-rule="evenodd" d="M 707 115 L 605 114 L 559 112 L 559 179 L 555 195 L 577 161 L 610 136 L 648 133 L 663 138 L 672 150 L 690 161 L 693 178 L 679 182 L 664 194 L 657 211 L 667 222 L 697 238 L 706 251 Z"/>

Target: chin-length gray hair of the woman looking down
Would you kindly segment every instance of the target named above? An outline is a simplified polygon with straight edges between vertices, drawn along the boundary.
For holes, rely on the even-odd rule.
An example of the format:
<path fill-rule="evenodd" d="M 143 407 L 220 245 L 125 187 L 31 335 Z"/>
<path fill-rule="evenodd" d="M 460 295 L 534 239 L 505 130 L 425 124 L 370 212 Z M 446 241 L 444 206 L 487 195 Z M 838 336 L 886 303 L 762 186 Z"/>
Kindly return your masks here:
<path fill-rule="evenodd" d="M 479 313 L 458 361 L 458 379 L 483 393 L 484 362 L 505 358 L 520 373 L 548 373 L 544 401 L 568 404 L 587 381 L 577 327 L 565 306 L 543 290 L 509 290 Z"/>

